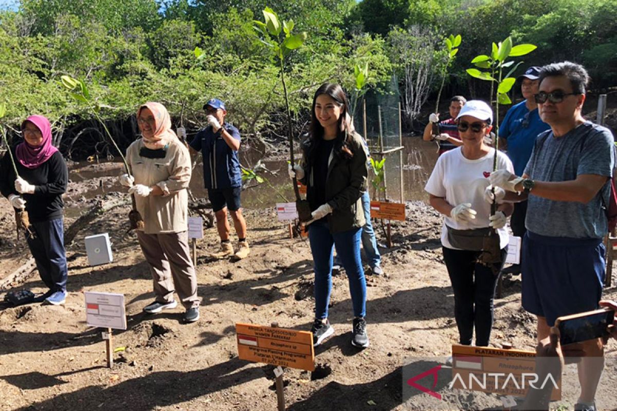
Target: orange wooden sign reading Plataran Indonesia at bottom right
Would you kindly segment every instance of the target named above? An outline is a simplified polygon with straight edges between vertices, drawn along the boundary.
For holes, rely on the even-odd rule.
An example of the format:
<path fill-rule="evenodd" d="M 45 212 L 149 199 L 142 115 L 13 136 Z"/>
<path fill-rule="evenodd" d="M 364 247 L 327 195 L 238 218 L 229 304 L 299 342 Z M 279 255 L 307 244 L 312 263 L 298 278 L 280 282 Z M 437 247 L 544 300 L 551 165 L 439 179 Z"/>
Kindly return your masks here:
<path fill-rule="evenodd" d="M 536 352 L 452 344 L 451 388 L 524 397 L 530 383 L 553 386 L 551 399 L 561 399 L 561 380 L 538 377 Z M 537 381 L 534 381 L 534 378 Z"/>

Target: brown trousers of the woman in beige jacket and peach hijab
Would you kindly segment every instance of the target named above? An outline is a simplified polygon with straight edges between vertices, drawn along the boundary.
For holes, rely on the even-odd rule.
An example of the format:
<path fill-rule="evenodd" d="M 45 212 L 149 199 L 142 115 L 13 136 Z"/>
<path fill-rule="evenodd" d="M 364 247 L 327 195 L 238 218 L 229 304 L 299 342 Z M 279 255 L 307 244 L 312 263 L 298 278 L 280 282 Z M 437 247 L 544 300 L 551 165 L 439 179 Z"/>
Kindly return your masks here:
<path fill-rule="evenodd" d="M 171 303 L 173 292 L 178 291 L 186 309 L 199 307 L 197 275 L 189 250 L 188 232 L 145 234 L 138 230 L 137 238 L 150 267 L 156 301 Z"/>

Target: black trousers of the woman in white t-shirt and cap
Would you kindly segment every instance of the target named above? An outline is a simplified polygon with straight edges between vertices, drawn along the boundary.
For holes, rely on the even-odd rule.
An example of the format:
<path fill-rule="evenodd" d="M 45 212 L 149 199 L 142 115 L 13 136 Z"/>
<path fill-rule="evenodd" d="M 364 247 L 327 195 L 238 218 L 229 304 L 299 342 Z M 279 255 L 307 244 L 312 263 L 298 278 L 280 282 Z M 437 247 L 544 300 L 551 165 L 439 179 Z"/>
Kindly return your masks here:
<path fill-rule="evenodd" d="M 487 346 L 493 327 L 493 299 L 499 274 L 493 274 L 491 267 L 478 262 L 481 251 L 442 249 L 454 291 L 459 343 L 471 345 L 475 328 L 476 346 Z M 506 254 L 507 247 L 502 249 L 502 261 Z M 497 264 L 498 273 L 502 267 L 503 262 Z"/>

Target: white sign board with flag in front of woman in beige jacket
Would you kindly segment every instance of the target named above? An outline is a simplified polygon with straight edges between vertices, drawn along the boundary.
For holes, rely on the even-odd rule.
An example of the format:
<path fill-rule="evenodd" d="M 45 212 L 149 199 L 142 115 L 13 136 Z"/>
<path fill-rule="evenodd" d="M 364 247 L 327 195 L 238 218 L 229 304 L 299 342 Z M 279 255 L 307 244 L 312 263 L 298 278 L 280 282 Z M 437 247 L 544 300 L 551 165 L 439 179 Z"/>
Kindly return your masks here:
<path fill-rule="evenodd" d="M 126 330 L 124 295 L 86 291 L 86 324 Z"/>

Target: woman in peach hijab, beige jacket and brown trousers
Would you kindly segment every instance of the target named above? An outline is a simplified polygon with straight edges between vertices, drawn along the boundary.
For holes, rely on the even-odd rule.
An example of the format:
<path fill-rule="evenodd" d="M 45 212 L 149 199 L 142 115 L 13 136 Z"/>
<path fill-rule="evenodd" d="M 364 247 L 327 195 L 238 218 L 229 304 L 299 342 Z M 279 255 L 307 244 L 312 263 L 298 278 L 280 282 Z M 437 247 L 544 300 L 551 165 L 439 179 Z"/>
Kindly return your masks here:
<path fill-rule="evenodd" d="M 183 322 L 199 319 L 197 277 L 188 242 L 188 192 L 191 157 L 172 131 L 167 108 L 147 102 L 137 111 L 141 139 L 126 149 L 130 174 L 120 184 L 130 187 L 135 205 L 144 220 L 137 229 L 141 250 L 154 280 L 154 301 L 144 312 L 155 314 L 183 304 Z"/>

